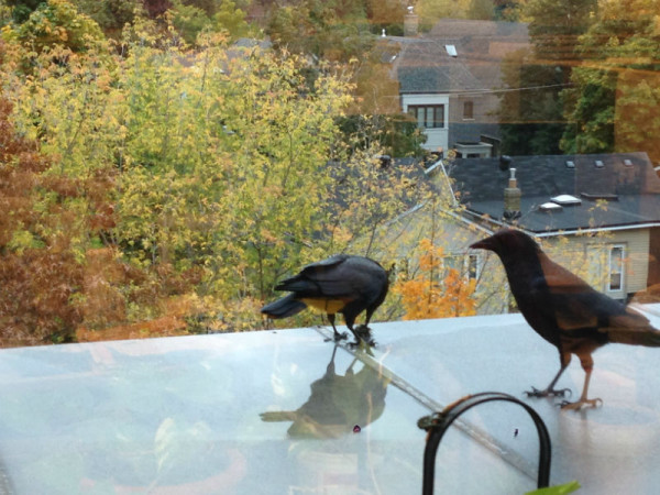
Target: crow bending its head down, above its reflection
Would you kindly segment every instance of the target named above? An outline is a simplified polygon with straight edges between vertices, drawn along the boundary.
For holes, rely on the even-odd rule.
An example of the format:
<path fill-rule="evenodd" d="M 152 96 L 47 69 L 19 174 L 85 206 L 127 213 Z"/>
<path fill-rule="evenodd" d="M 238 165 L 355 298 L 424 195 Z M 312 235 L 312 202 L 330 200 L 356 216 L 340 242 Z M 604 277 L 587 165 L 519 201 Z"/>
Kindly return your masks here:
<path fill-rule="evenodd" d="M 271 318 L 286 318 L 307 306 L 320 309 L 328 315 L 334 340 L 345 339 L 345 333 L 340 334 L 334 327 L 334 315 L 340 312 L 355 336 L 355 343 L 360 343 L 360 334 L 353 328 L 355 318 L 366 310 L 363 329 L 369 333 L 369 321 L 385 300 L 388 286 L 387 272 L 375 261 L 338 254 L 307 265 L 298 275 L 280 282 L 275 290 L 292 294 L 264 306 L 262 312 Z"/>

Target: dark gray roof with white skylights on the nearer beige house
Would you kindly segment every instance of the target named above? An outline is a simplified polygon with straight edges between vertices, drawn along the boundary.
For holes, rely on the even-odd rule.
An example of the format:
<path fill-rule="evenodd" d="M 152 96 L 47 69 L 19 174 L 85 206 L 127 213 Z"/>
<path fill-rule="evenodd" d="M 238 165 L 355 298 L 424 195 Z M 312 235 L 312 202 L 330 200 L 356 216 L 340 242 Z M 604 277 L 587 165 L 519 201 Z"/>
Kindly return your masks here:
<path fill-rule="evenodd" d="M 660 227 L 660 178 L 646 153 L 514 156 L 510 167 L 521 190 L 517 223 L 531 232 Z M 469 213 L 502 223 L 510 173 L 499 168 L 499 158 L 458 158 L 448 175 Z M 552 211 L 539 208 L 559 195 L 581 202 Z"/>

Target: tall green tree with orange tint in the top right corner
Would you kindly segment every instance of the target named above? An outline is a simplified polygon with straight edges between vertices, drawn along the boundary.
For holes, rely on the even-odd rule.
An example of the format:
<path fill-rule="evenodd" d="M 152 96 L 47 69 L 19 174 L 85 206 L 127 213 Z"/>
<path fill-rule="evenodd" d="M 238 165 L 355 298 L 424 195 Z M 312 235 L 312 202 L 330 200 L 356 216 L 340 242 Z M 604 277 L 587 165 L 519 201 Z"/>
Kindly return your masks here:
<path fill-rule="evenodd" d="M 583 63 L 573 70 L 573 87 L 562 95 L 571 122 L 562 140 L 566 152 L 646 151 L 660 158 L 658 9 L 657 0 L 601 4 L 580 37 Z"/>

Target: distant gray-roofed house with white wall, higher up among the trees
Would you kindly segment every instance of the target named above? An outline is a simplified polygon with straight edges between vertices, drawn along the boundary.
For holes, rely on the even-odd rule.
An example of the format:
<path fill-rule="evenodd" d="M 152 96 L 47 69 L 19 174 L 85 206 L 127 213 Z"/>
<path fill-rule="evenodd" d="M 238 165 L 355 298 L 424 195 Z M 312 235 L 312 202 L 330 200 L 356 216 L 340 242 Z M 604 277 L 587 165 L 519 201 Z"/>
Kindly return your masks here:
<path fill-rule="evenodd" d="M 502 67 L 508 54 L 529 46 L 527 24 L 444 19 L 425 35 L 386 43 L 400 46 L 392 74 L 402 111 L 425 130 L 425 147 L 497 155 Z"/>

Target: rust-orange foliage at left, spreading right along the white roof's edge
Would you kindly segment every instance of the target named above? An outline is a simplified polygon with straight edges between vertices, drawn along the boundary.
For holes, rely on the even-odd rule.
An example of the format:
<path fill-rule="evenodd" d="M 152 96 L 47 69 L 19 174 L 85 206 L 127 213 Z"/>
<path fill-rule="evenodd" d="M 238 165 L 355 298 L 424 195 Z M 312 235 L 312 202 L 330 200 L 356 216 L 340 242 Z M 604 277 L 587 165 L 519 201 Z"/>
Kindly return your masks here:
<path fill-rule="evenodd" d="M 52 174 L 37 145 L 18 136 L 11 111 L 0 98 L 0 346 L 186 333 L 162 301 L 199 283 L 199 271 L 148 272 L 111 242 L 98 248 L 116 227 L 116 170 Z M 165 317 L 127 324 L 131 304 Z"/>

